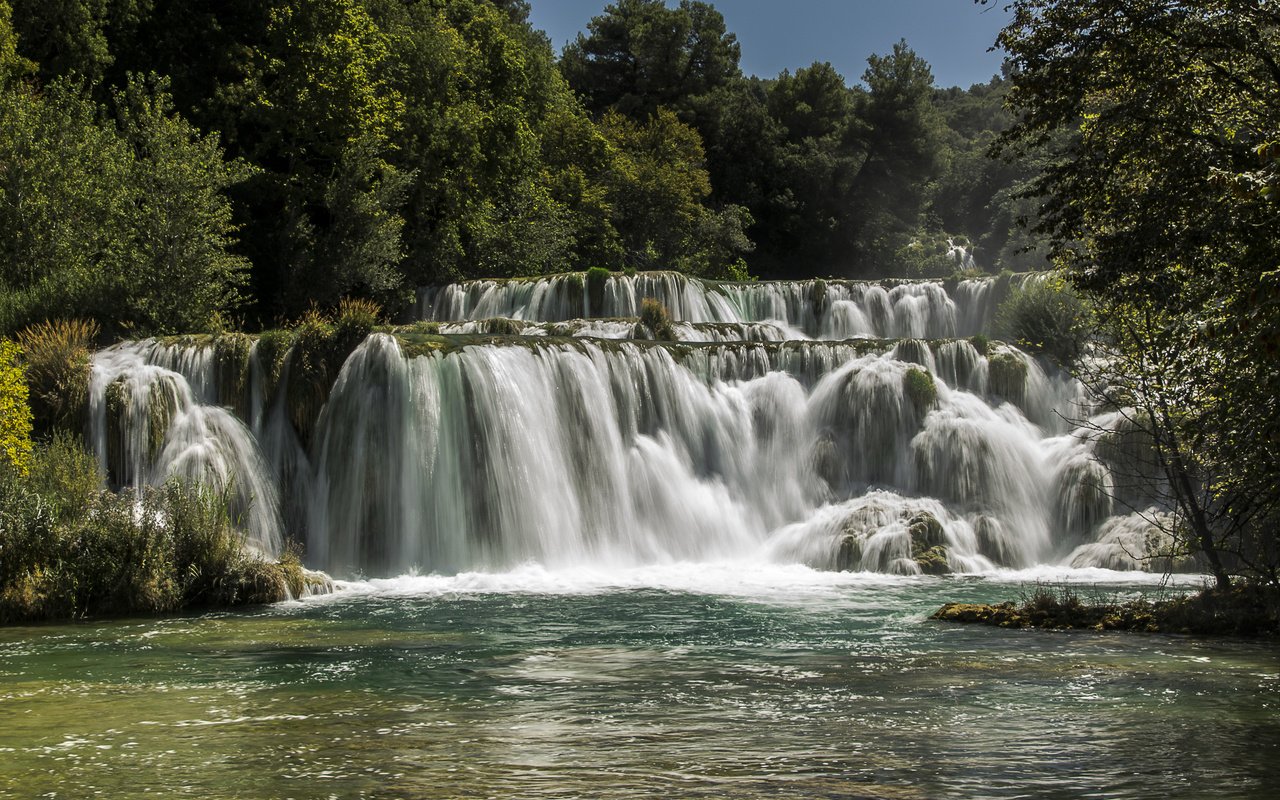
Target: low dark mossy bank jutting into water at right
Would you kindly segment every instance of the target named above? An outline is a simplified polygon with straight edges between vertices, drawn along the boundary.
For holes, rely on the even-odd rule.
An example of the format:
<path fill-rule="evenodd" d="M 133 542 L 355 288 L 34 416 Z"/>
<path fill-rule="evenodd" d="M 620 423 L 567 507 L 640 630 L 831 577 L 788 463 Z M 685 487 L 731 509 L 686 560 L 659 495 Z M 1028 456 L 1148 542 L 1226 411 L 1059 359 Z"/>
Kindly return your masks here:
<path fill-rule="evenodd" d="M 1280 635 L 1280 590 L 1236 584 L 1167 600 L 1085 602 L 1070 589 L 1042 586 L 1021 603 L 947 603 L 929 618 L 1009 628 L 1272 637 Z"/>

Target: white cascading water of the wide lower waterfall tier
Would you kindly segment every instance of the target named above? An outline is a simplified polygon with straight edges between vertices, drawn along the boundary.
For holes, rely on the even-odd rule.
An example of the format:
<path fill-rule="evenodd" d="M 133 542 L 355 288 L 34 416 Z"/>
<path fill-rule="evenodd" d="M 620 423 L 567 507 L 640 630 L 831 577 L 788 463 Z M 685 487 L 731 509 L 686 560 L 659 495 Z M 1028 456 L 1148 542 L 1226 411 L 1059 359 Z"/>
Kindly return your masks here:
<path fill-rule="evenodd" d="M 301 535 L 307 564 L 339 576 L 722 562 L 914 573 L 920 515 L 960 572 L 1132 566 L 1106 543 L 1080 549 L 1114 512 L 1094 490 L 1106 466 L 1096 436 L 1057 413 L 1078 412 L 1074 384 L 1016 351 L 992 353 L 1027 365 L 1014 404 L 963 340 L 508 339 L 406 358 L 378 334 L 347 360 L 306 448 L 256 365 L 248 424 L 219 407 L 209 353 L 142 342 L 99 356 L 104 462 L 106 387 L 123 380 L 119 481 L 234 479 L 259 547 Z M 932 404 L 904 388 L 920 367 Z M 177 413 L 156 444 L 146 398 L 160 388 Z M 840 563 L 850 539 L 856 561 Z"/>

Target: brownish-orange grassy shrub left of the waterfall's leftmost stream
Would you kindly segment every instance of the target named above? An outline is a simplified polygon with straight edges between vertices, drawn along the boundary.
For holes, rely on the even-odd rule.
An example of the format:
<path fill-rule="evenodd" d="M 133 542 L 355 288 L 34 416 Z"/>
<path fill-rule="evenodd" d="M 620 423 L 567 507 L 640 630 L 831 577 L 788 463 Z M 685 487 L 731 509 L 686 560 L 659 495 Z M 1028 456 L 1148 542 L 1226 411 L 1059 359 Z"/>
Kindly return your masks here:
<path fill-rule="evenodd" d="M 81 430 L 88 410 L 90 358 L 97 323 L 52 320 L 18 334 L 37 428 Z"/>

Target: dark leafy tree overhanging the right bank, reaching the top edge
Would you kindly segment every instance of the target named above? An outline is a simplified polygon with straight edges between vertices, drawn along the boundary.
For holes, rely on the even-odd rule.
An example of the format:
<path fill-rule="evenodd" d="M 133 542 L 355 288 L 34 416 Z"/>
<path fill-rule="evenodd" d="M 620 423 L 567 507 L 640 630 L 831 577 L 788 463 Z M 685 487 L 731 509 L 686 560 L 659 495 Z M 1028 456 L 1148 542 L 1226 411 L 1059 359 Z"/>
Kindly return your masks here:
<path fill-rule="evenodd" d="M 1041 229 L 1096 298 L 1180 530 L 1217 575 L 1280 553 L 1280 9 L 1251 0 L 1019 0 L 1000 35 L 1018 123 L 1048 146 Z M 1062 134 L 1062 132 L 1068 132 Z"/>

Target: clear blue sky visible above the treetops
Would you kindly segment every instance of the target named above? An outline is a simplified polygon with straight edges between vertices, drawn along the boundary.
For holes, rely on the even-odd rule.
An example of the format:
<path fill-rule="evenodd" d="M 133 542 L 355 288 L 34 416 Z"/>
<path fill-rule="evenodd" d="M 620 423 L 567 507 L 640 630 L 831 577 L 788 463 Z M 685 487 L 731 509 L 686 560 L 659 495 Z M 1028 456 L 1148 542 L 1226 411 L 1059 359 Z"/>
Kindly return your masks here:
<path fill-rule="evenodd" d="M 609 0 L 530 0 L 529 18 L 556 51 L 586 29 Z M 676 5 L 668 0 L 668 5 Z M 849 83 L 867 56 L 888 54 L 905 38 L 933 68 L 941 87 L 986 83 L 1001 54 L 987 52 L 1009 18 L 1002 0 L 712 0 L 742 46 L 742 72 L 762 78 L 831 61 Z"/>

